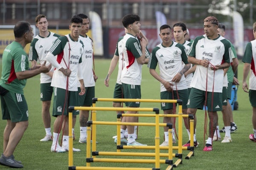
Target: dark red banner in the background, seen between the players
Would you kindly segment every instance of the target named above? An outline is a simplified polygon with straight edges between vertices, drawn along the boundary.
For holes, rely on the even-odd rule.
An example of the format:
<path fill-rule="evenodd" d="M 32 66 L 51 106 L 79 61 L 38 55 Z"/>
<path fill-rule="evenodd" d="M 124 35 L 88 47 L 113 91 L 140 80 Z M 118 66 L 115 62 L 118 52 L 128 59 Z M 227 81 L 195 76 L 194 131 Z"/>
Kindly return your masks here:
<path fill-rule="evenodd" d="M 157 30 L 155 28 L 149 28 L 149 29 L 142 29 L 145 36 L 148 38 L 148 50 L 152 51 L 152 49 L 160 44 L 159 40 L 157 40 L 156 32 Z M 189 28 L 190 33 L 190 39 L 195 39 L 195 37 L 203 35 L 204 29 L 199 28 Z M 109 43 L 108 43 L 108 50 L 109 50 L 109 56 L 113 56 L 115 49 L 116 49 L 116 42 L 119 37 L 124 36 L 125 31 L 124 28 L 110 28 L 109 29 Z M 225 38 L 230 40 L 232 43 L 234 43 L 234 36 L 233 36 L 233 30 L 226 29 L 226 35 Z M 174 40 L 174 38 L 173 38 Z M 244 30 L 244 49 L 247 42 L 250 42 L 254 40 L 253 37 L 253 30 L 252 29 L 245 29 Z"/>

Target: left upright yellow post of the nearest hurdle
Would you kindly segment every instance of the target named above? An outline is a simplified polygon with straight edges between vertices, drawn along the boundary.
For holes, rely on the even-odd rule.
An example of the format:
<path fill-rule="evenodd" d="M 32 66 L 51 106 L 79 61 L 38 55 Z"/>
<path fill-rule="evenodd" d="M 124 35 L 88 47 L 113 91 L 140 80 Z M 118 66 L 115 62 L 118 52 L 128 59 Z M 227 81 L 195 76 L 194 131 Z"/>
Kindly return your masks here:
<path fill-rule="evenodd" d="M 68 166 L 73 166 L 73 134 L 72 134 L 72 111 L 68 113 Z"/>

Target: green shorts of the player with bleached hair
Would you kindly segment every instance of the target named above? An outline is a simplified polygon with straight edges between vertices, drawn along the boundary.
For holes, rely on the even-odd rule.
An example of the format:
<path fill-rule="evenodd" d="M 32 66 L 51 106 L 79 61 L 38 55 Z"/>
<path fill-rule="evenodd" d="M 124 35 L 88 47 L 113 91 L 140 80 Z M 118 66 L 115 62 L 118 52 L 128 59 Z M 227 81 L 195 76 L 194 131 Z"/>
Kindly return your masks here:
<path fill-rule="evenodd" d="M 205 91 L 196 88 L 191 88 L 188 100 L 188 108 L 202 109 L 205 102 Z M 222 111 L 222 93 L 207 92 L 207 108 L 208 111 Z"/>

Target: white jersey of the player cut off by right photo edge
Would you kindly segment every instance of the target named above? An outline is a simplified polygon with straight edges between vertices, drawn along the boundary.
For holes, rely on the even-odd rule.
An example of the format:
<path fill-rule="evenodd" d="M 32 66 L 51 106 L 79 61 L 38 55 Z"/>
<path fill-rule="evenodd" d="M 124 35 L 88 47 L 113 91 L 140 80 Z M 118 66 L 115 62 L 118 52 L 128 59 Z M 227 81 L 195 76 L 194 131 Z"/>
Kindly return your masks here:
<path fill-rule="evenodd" d="M 256 40 L 247 43 L 242 62 L 246 62 L 251 65 L 249 89 L 256 90 Z"/>

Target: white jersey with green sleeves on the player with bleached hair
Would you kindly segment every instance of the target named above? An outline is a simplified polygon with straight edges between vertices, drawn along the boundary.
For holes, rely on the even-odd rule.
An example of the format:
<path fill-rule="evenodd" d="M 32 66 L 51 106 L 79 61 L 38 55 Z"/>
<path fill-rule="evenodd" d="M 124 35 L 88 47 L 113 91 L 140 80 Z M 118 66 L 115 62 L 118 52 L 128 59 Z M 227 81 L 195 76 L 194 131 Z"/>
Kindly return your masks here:
<path fill-rule="evenodd" d="M 223 69 L 213 71 L 210 67 L 212 65 L 221 65 L 223 62 L 231 62 L 233 52 L 230 42 L 220 35 L 216 39 L 210 40 L 204 34 L 195 38 L 189 48 L 188 55 L 210 62 L 208 68 L 197 65 L 191 87 L 212 92 L 214 83 L 213 91 L 222 93 L 224 71 Z"/>

